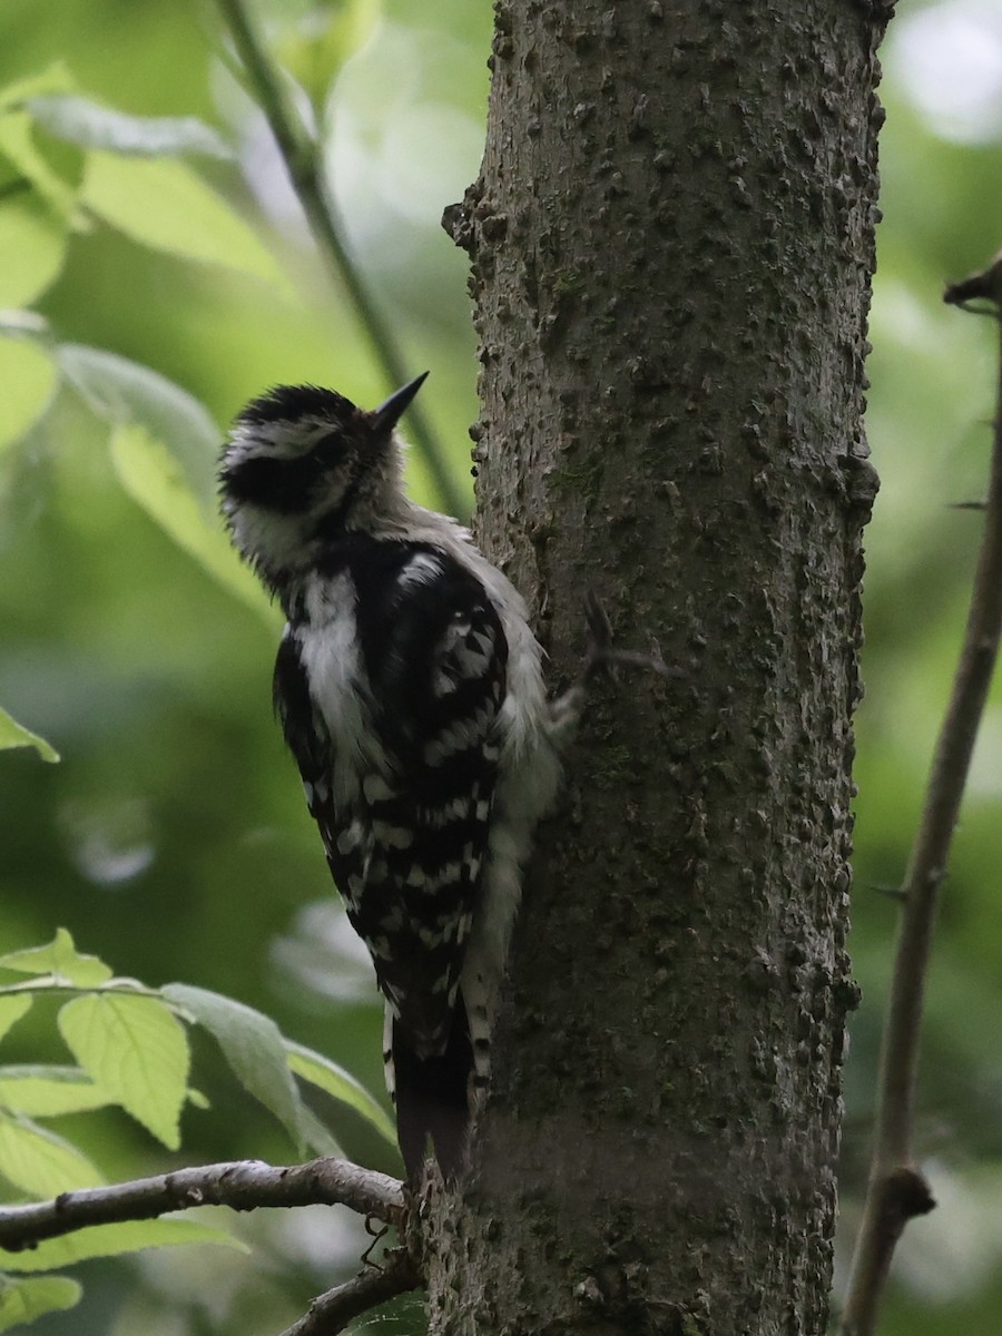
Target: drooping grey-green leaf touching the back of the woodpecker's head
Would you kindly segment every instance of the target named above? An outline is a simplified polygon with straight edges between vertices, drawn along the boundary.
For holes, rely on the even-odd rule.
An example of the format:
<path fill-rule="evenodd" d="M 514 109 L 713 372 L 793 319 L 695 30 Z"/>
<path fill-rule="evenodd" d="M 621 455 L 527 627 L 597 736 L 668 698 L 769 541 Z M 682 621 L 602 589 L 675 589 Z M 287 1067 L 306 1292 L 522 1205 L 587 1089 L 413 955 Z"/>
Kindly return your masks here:
<path fill-rule="evenodd" d="M 63 343 L 56 361 L 90 406 L 114 426 L 140 424 L 180 465 L 206 518 L 215 518 L 220 432 L 208 409 L 166 375 L 126 357 Z"/>

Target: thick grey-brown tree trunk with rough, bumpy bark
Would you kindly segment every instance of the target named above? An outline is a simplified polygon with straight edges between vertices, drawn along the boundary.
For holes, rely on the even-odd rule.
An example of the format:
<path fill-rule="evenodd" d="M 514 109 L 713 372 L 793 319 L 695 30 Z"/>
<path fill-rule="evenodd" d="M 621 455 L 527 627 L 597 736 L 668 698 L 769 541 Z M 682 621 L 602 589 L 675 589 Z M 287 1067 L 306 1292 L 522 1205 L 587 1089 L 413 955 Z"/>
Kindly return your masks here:
<path fill-rule="evenodd" d="M 601 688 L 516 935 L 432 1331 L 818 1333 L 850 883 L 875 45 L 864 0 L 502 0 L 448 226 L 480 536 Z"/>

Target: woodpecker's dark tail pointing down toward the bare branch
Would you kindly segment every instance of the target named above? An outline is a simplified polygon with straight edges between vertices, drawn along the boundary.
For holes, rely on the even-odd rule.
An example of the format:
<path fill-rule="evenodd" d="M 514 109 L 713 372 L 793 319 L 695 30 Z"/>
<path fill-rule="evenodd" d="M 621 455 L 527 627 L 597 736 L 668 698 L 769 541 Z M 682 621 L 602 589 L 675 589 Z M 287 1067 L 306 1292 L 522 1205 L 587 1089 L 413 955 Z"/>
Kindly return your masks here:
<path fill-rule="evenodd" d="M 462 1002 L 457 1005 L 449 1042 L 430 1058 L 418 1055 L 389 1007 L 386 1031 L 386 1083 L 397 1106 L 397 1140 L 407 1182 L 421 1180 L 429 1137 L 442 1177 L 454 1181 L 466 1161 L 470 1128 L 473 1046 L 466 1010 Z"/>

